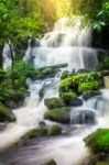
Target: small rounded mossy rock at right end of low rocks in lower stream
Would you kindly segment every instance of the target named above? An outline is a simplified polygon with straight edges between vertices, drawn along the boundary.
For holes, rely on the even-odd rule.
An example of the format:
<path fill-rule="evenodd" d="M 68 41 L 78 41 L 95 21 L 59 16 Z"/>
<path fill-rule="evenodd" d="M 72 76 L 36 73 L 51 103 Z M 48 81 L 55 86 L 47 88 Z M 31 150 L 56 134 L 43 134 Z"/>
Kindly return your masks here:
<path fill-rule="evenodd" d="M 62 128 L 57 124 L 54 124 L 50 129 L 50 135 L 59 135 L 62 134 Z"/>

